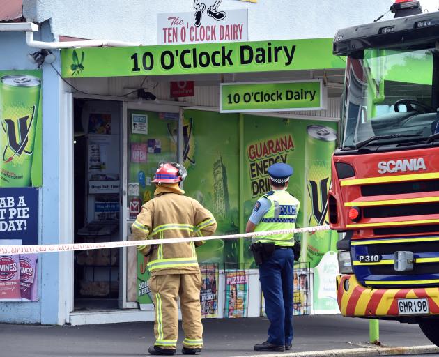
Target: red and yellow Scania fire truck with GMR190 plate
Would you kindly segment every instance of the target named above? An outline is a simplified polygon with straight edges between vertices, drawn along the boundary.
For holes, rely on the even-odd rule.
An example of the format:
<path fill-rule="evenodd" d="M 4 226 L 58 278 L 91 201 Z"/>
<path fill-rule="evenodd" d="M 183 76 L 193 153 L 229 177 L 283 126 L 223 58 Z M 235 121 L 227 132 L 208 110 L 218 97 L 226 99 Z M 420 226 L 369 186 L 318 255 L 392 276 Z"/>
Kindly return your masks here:
<path fill-rule="evenodd" d="M 346 317 L 419 324 L 439 346 L 439 12 L 337 31 L 346 56 L 328 192 Z"/>

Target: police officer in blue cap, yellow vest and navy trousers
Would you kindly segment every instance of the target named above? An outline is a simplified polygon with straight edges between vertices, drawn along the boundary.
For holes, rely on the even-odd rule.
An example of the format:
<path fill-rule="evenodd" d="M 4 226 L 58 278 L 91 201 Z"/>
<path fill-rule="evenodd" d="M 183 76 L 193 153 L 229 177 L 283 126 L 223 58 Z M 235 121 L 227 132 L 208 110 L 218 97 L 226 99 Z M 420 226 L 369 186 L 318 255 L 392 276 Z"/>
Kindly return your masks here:
<path fill-rule="evenodd" d="M 300 203 L 286 188 L 293 168 L 284 163 L 268 167 L 272 191 L 254 205 L 245 231 L 293 229 Z M 254 346 L 255 351 L 282 352 L 293 340 L 293 234 L 257 236 L 252 243 L 259 281 L 270 320 L 268 340 Z M 259 254 L 259 255 L 258 255 Z M 257 258 L 259 257 L 259 259 Z"/>

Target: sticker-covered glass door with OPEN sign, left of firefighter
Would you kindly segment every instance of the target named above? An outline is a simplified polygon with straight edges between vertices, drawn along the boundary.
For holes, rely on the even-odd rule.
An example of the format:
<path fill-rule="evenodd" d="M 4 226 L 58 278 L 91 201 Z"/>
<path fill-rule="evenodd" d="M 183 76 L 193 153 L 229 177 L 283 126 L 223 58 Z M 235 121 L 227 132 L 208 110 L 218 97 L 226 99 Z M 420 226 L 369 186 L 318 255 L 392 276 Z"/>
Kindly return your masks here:
<path fill-rule="evenodd" d="M 178 161 L 179 107 L 127 105 L 125 130 L 125 239 L 143 204 L 153 198 L 153 177 L 160 162 Z M 125 166 L 125 165 L 124 165 Z M 135 247 L 126 250 L 126 290 L 123 307 L 152 310 L 144 256 Z"/>

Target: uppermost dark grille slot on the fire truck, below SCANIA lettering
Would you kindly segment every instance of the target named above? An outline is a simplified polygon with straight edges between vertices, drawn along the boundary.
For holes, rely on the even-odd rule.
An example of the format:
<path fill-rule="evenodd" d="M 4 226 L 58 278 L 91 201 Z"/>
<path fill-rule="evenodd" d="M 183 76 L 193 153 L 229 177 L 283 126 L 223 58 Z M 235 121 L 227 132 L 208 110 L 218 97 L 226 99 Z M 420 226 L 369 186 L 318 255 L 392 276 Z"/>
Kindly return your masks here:
<path fill-rule="evenodd" d="M 439 180 L 379 183 L 361 186 L 363 196 L 401 195 L 404 193 L 439 191 Z"/>

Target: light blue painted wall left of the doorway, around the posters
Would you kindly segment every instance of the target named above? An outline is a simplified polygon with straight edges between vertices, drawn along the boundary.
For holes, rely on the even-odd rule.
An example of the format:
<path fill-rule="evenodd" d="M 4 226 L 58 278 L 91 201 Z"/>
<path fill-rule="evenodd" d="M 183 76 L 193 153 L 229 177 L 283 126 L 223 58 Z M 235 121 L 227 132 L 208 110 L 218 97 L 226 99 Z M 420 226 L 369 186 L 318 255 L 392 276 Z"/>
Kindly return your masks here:
<path fill-rule="evenodd" d="M 38 40 L 53 40 L 49 24 L 36 33 Z M 0 32 L 0 70 L 29 70 L 36 65 L 27 59 L 36 49 L 26 45 L 24 32 Z M 54 52 L 59 70 L 59 52 Z M 43 187 L 38 197 L 38 243 L 59 243 L 59 121 L 61 79 L 48 64 L 43 65 Z M 0 302 L 0 322 L 56 324 L 59 322 L 59 266 L 63 257 L 44 254 L 38 258 L 37 302 Z"/>

